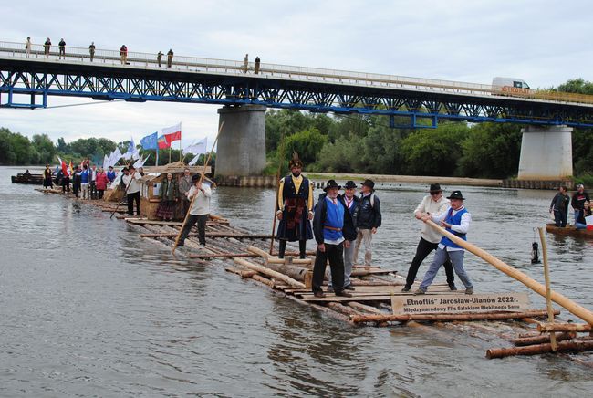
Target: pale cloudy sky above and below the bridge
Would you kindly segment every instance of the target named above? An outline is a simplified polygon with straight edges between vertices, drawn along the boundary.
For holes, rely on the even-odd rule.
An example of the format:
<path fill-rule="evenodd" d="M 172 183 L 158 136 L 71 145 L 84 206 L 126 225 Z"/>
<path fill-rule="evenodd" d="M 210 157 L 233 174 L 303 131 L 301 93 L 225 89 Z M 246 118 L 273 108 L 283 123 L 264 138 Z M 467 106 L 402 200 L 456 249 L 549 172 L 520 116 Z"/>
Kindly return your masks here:
<path fill-rule="evenodd" d="M 5 2 L 0 41 L 46 37 L 57 44 L 176 56 L 386 73 L 490 84 L 495 76 L 532 88 L 593 80 L 593 2 L 111 1 Z M 53 140 L 136 142 L 182 122 L 183 146 L 213 142 L 220 106 L 95 102 L 49 97 L 42 110 L 0 109 L 0 127 Z"/>

